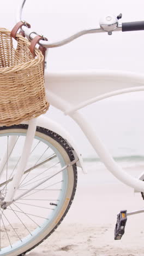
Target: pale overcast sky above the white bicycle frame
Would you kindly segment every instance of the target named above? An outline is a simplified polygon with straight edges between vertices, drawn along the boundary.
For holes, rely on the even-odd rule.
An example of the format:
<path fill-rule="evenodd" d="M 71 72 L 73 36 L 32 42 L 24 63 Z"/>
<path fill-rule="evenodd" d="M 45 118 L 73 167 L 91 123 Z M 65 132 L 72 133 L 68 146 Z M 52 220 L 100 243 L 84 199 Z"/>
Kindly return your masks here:
<path fill-rule="evenodd" d="M 1 0 L 1 27 L 15 24 L 21 0 Z M 49 41 L 63 39 L 79 30 L 94 28 L 105 14 L 123 14 L 122 21 L 144 20 L 144 1 L 136 0 L 27 0 L 23 19 Z M 123 69 L 144 71 L 144 31 L 91 34 L 49 52 L 49 70 Z"/>

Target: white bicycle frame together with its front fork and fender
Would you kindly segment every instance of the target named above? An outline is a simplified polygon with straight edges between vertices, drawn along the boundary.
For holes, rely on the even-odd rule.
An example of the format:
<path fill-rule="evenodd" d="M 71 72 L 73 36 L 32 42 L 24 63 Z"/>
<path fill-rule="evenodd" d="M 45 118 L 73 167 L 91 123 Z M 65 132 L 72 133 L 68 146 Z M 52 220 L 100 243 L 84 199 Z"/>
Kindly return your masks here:
<path fill-rule="evenodd" d="M 26 27 L 25 29 L 26 31 L 28 30 Z M 69 115 L 80 126 L 107 169 L 121 182 L 129 185 L 136 191 L 144 192 L 144 182 L 141 181 L 143 174 L 140 178 L 134 178 L 123 171 L 100 141 L 93 127 L 89 125 L 86 117 L 79 112 L 79 109 L 111 96 L 144 91 L 144 75 L 121 71 L 71 71 L 51 74 L 45 72 L 45 87 L 50 104 L 62 110 L 65 115 Z M 75 162 L 77 162 L 78 166 L 83 167 L 81 154 L 78 152 L 69 133 L 62 126 L 46 117 L 37 118 L 37 123 L 31 120 L 21 164 L 17 168 L 13 182 L 8 184 L 9 190 L 5 197 L 5 202 L 11 202 L 14 199 L 15 191 L 26 167 L 28 154 L 26 155 L 25 153 L 31 150 L 36 125 L 57 132 L 67 139 L 68 143 L 74 148 L 76 158 L 79 159 L 79 162 L 77 160 Z M 31 141 L 29 141 L 29 137 L 31 137 Z M 13 148 L 14 141 L 15 138 L 11 142 L 11 148 Z M 5 154 L 1 161 L 0 175 L 2 174 Z"/>

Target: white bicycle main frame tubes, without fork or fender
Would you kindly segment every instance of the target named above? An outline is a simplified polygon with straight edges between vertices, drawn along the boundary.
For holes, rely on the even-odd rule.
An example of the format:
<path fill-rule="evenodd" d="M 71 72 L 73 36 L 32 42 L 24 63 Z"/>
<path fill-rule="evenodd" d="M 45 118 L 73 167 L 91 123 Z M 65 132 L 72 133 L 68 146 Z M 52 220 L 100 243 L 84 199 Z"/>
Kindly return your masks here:
<path fill-rule="evenodd" d="M 117 165 L 79 109 L 114 95 L 143 91 L 144 75 L 119 71 L 46 73 L 45 82 L 50 103 L 81 127 L 107 169 L 123 183 L 143 191 L 143 182 Z"/>

